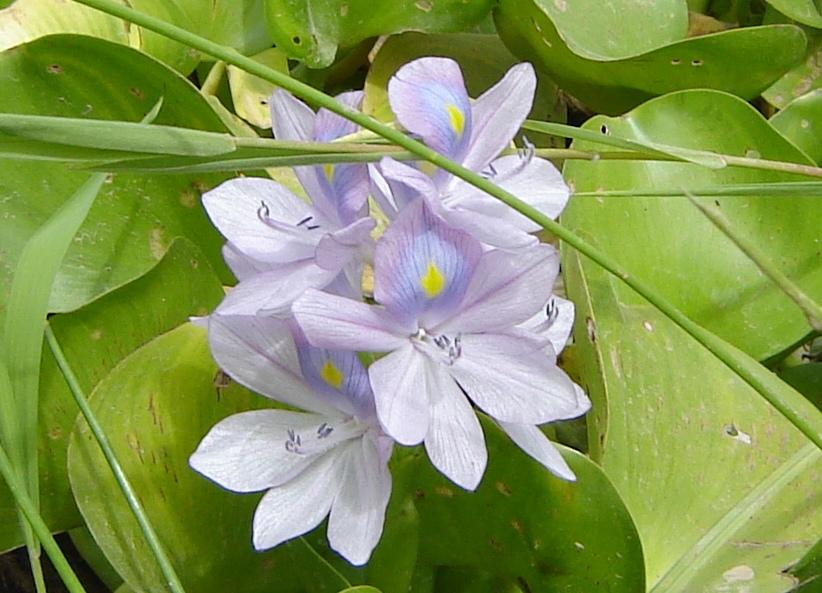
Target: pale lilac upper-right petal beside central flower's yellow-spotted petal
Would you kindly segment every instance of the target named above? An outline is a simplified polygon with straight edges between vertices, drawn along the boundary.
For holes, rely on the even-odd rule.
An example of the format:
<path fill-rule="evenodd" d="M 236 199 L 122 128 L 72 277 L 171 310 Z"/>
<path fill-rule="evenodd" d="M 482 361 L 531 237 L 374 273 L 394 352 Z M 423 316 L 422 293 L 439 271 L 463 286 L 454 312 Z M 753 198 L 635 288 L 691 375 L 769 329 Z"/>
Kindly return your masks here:
<path fill-rule="evenodd" d="M 559 272 L 559 256 L 550 245 L 517 252 L 487 251 L 477 264 L 459 312 L 438 333 L 508 329 L 529 319 L 545 304 Z"/>

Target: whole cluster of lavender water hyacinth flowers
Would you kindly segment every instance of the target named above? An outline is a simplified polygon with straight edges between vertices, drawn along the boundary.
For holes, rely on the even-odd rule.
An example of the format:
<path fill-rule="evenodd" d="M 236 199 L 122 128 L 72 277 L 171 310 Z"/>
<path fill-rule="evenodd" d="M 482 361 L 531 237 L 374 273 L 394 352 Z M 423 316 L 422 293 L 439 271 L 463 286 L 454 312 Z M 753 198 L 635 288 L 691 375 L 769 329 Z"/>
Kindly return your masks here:
<path fill-rule="evenodd" d="M 556 168 L 528 147 L 500 156 L 535 84 L 519 64 L 471 101 L 455 62 L 422 58 L 400 68 L 388 96 L 407 132 L 555 217 L 568 199 Z M 338 98 L 358 108 L 362 93 Z M 277 138 L 356 131 L 283 91 L 270 104 Z M 590 402 L 556 364 L 574 312 L 552 295 L 558 255 L 537 227 L 444 171 L 389 158 L 295 172 L 307 201 L 258 178 L 204 196 L 239 279 L 207 319 L 213 356 L 289 407 L 223 420 L 190 460 L 225 488 L 266 491 L 255 547 L 328 517 L 330 546 L 366 563 L 382 534 L 395 444 L 423 444 L 440 472 L 473 490 L 487 463 L 478 411 L 573 480 L 539 425 L 578 417 Z M 389 220 L 376 240 L 370 208 Z M 363 294 L 366 267 L 373 295 Z M 360 353 L 375 362 L 365 368 Z"/>

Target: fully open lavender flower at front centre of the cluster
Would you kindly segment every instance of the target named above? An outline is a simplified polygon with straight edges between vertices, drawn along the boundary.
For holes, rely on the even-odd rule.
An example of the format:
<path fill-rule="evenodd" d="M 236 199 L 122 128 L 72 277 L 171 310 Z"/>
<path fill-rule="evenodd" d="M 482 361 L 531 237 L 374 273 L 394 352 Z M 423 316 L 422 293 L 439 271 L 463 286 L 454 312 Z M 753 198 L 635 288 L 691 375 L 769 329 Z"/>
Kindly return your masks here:
<path fill-rule="evenodd" d="M 552 247 L 483 252 L 418 200 L 377 243 L 381 306 L 308 290 L 292 310 L 315 346 L 389 352 L 369 368 L 381 423 L 402 444 L 424 442 L 455 483 L 474 489 L 487 460 L 466 395 L 527 453 L 573 479 L 535 425 L 590 404 L 556 366 L 550 339 L 518 327 L 543 307 L 557 271 Z"/>

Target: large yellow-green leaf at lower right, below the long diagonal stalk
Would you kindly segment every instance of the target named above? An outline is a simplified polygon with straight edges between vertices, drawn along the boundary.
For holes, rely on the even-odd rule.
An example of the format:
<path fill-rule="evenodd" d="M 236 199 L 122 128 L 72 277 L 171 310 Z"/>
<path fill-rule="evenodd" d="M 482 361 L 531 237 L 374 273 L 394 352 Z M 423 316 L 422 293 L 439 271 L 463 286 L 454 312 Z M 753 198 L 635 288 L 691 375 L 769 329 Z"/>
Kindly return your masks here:
<path fill-rule="evenodd" d="M 820 452 L 653 306 L 577 253 L 563 255 L 596 411 L 591 450 L 637 523 L 649 589 L 788 589 L 782 570 L 822 529 Z"/>

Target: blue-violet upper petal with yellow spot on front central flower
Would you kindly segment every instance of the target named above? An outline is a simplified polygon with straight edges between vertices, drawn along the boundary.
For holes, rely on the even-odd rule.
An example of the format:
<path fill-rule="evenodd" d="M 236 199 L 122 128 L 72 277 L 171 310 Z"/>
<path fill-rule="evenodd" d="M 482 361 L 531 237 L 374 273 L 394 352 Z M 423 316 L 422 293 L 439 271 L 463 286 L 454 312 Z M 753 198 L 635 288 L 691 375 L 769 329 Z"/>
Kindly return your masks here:
<path fill-rule="evenodd" d="M 473 237 L 414 202 L 377 242 L 374 297 L 398 319 L 436 323 L 462 300 L 481 253 Z"/>

